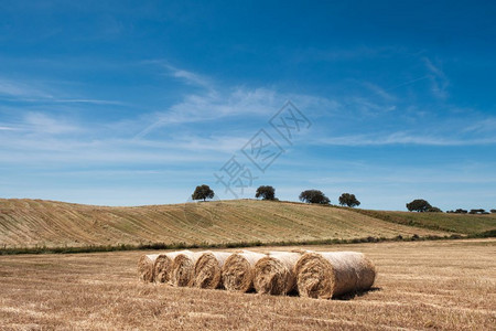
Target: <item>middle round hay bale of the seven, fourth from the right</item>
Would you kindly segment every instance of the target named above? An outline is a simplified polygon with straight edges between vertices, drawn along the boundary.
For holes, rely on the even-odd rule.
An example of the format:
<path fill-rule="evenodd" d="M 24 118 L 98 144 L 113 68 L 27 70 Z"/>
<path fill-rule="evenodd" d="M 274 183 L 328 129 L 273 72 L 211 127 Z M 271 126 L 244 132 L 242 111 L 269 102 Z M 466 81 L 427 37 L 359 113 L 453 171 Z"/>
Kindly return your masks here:
<path fill-rule="evenodd" d="M 222 287 L 222 268 L 231 253 L 205 252 L 196 260 L 193 286 L 198 288 Z"/>

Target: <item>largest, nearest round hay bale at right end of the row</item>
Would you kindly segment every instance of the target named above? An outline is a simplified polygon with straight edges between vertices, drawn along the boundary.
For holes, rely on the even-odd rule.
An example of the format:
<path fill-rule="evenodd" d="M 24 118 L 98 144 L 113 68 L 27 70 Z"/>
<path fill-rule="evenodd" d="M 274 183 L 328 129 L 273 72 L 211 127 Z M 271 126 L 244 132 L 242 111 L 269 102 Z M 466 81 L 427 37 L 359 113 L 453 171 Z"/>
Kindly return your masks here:
<path fill-rule="evenodd" d="M 374 264 L 356 252 L 306 253 L 295 274 L 300 296 L 321 299 L 367 290 L 376 278 Z"/>

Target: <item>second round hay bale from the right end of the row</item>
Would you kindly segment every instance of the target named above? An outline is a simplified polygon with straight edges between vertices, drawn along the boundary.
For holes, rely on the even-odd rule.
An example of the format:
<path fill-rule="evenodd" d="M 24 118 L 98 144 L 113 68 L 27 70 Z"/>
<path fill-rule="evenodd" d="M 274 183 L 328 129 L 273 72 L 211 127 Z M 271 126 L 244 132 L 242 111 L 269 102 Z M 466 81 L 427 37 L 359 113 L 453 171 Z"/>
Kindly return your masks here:
<path fill-rule="evenodd" d="M 296 288 L 294 266 L 301 254 L 271 252 L 255 265 L 254 287 L 258 293 L 287 295 Z"/>

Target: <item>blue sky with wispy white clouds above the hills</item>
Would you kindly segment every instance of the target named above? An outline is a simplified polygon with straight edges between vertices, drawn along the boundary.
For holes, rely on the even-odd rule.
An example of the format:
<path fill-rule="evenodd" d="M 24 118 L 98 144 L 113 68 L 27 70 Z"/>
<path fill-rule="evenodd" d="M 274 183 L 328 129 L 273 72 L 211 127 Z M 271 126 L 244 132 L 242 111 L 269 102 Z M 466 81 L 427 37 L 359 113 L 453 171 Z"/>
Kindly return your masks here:
<path fill-rule="evenodd" d="M 0 196 L 234 199 L 215 173 L 235 157 L 252 174 L 238 197 L 495 209 L 495 17 L 493 1 L 0 0 Z M 310 122 L 291 141 L 269 122 L 288 100 Z M 283 150 L 263 172 L 241 151 L 260 129 Z"/>

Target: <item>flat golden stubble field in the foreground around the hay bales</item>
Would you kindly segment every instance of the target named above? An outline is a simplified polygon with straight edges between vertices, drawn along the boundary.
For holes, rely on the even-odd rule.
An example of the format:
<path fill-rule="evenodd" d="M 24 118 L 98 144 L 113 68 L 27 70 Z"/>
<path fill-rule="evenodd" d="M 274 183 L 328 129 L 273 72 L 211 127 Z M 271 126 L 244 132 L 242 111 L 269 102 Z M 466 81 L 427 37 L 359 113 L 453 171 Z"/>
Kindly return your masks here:
<path fill-rule="evenodd" d="M 0 329 L 494 330 L 496 239 L 302 248 L 366 254 L 373 290 L 324 300 L 142 282 L 143 252 L 0 256 Z"/>

